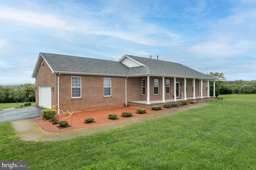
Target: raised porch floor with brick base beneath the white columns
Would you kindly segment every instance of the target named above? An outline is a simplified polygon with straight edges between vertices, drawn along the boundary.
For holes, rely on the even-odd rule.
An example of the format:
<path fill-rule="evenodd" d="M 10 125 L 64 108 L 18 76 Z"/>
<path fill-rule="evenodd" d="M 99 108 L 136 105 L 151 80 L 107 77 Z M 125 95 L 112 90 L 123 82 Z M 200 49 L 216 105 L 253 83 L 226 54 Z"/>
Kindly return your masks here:
<path fill-rule="evenodd" d="M 162 100 L 155 100 L 155 101 L 150 101 L 150 104 L 147 104 L 147 101 L 130 101 L 129 106 L 133 107 L 142 107 L 142 108 L 151 108 L 152 106 L 158 105 L 163 107 L 165 103 L 180 103 L 181 101 L 194 101 L 194 102 L 199 102 L 199 101 L 206 101 L 206 100 L 214 100 L 216 97 L 208 97 L 208 96 L 197 96 L 197 97 L 187 97 L 186 99 L 184 98 L 177 98 L 176 101 L 174 99 L 166 99 L 165 102 Z"/>

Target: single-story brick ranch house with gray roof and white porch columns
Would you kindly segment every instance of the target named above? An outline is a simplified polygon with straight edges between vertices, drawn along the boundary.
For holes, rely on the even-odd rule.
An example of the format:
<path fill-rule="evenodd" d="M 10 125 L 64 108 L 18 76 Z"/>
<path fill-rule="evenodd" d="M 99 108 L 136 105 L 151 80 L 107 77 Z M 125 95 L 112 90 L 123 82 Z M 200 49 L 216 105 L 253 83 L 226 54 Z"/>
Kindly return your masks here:
<path fill-rule="evenodd" d="M 151 108 L 210 97 L 216 78 L 179 63 L 124 55 L 119 61 L 40 53 L 32 77 L 36 105 L 63 111 L 105 107 Z"/>

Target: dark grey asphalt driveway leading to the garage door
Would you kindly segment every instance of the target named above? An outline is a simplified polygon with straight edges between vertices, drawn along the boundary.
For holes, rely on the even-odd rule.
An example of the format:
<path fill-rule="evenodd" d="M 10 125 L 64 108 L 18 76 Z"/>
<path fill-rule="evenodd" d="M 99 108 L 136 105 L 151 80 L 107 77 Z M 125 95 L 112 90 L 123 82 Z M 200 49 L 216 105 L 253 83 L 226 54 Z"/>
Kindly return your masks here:
<path fill-rule="evenodd" d="M 0 123 L 40 117 L 42 109 L 44 108 L 39 106 L 32 106 L 32 107 L 24 107 L 20 109 L 3 110 L 3 111 L 0 111 Z"/>

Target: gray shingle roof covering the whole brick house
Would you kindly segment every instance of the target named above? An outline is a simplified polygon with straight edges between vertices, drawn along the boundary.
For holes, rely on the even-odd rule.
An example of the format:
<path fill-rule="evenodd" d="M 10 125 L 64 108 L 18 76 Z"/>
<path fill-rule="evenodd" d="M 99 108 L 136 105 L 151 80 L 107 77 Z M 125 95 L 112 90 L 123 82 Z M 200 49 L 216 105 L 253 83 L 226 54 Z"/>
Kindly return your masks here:
<path fill-rule="evenodd" d="M 170 77 L 191 77 L 202 79 L 215 79 L 210 75 L 200 73 L 194 69 L 179 63 L 150 59 L 145 57 L 128 56 L 144 65 L 139 67 L 127 67 L 118 61 L 103 59 L 92 59 L 86 57 L 75 57 L 69 55 L 59 55 L 51 53 L 40 53 L 54 73 L 74 73 L 92 75 L 116 75 L 116 76 L 135 76 L 135 75 L 159 75 Z M 40 55 L 39 55 L 40 57 Z M 39 59 L 39 58 L 38 58 Z M 39 63 L 40 64 L 40 63 Z M 34 69 L 32 77 L 38 71 L 38 63 Z"/>

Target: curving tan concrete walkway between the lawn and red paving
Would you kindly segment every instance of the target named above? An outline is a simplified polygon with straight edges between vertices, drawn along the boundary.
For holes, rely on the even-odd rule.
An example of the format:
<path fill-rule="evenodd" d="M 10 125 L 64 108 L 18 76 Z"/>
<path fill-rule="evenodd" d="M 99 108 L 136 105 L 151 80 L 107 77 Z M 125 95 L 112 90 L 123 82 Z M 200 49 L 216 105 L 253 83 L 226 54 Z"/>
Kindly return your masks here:
<path fill-rule="evenodd" d="M 137 123 L 141 121 L 145 121 L 147 119 L 152 119 L 164 115 L 169 115 L 172 113 L 185 111 L 188 109 L 193 109 L 196 107 L 207 106 L 207 103 L 198 102 L 193 105 L 186 105 L 184 107 L 176 107 L 170 109 L 168 111 L 162 111 L 158 113 L 153 113 L 150 115 L 145 115 L 142 117 L 127 119 L 124 121 L 117 121 L 113 123 L 107 123 L 103 125 L 97 125 L 92 127 L 80 128 L 76 130 L 70 130 L 61 133 L 49 133 L 44 132 L 36 123 L 34 123 L 31 119 L 25 119 L 20 121 L 11 121 L 12 127 L 14 128 L 16 134 L 23 140 L 33 140 L 33 141 L 56 141 L 56 140 L 63 140 L 67 138 L 72 138 L 76 136 L 80 136 L 83 134 L 89 134 L 92 132 L 98 132 L 102 130 L 108 130 L 112 128 L 122 127 L 125 125 L 130 125 L 132 123 Z"/>

